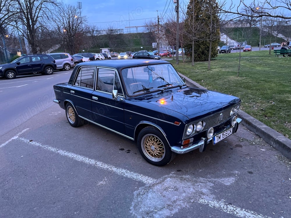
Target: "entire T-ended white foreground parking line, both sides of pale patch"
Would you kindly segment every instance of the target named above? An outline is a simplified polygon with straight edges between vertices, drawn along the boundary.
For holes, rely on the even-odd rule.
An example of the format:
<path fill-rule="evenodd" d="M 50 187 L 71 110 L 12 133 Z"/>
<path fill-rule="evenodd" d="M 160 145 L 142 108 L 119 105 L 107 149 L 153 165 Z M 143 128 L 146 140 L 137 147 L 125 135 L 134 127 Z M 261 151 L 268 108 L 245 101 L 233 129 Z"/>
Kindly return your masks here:
<path fill-rule="evenodd" d="M 74 160 L 86 163 L 88 165 L 92 165 L 92 166 L 100 168 L 100 169 L 105 169 L 105 170 L 111 171 L 111 172 L 116 173 L 118 175 L 125 176 L 127 178 L 143 182 L 145 184 L 151 184 L 151 183 L 154 183 L 154 182 L 158 181 L 157 179 L 154 179 L 154 178 L 151 178 L 151 177 L 148 177 L 148 176 L 144 176 L 142 174 L 138 174 L 138 173 L 126 170 L 126 169 L 114 167 L 112 165 L 109 165 L 109 164 L 106 164 L 106 163 L 103 163 L 103 162 L 100 162 L 100 161 L 97 161 L 97 160 L 93 160 L 91 158 L 87 158 L 87 157 L 84 157 L 84 156 L 81 156 L 81 155 L 78 155 L 78 154 L 75 154 L 75 153 L 72 153 L 72 152 L 69 152 L 69 151 L 57 149 L 57 148 L 54 148 L 54 147 L 51 147 L 51 146 L 43 145 L 43 144 L 40 144 L 38 142 L 34 142 L 34 141 L 31 141 L 31 140 L 19 137 L 20 134 L 24 133 L 28 129 L 29 128 L 24 129 L 22 132 L 18 133 L 17 135 L 15 135 L 11 139 L 9 139 L 7 142 L 1 144 L 0 148 L 5 146 L 6 144 L 11 142 L 12 140 L 18 139 L 18 140 L 21 140 L 22 142 L 25 142 L 27 144 L 38 146 L 40 148 L 46 149 L 48 151 L 52 151 L 52 152 L 60 154 L 62 156 L 72 158 Z M 250 210 L 239 208 L 239 207 L 234 206 L 234 205 L 228 205 L 228 204 L 226 204 L 226 203 L 224 203 L 222 201 L 215 201 L 215 200 L 209 201 L 209 200 L 206 200 L 204 198 L 200 198 L 200 199 L 198 199 L 198 202 L 202 203 L 202 204 L 205 204 L 205 205 L 208 205 L 208 206 L 210 206 L 212 208 L 216 208 L 218 210 L 224 211 L 224 212 L 226 212 L 228 214 L 231 214 L 231 215 L 234 215 L 236 217 L 243 217 L 243 218 L 271 218 L 271 217 L 268 217 L 268 216 L 257 214 L 257 213 L 255 213 L 253 211 L 250 211 Z"/>

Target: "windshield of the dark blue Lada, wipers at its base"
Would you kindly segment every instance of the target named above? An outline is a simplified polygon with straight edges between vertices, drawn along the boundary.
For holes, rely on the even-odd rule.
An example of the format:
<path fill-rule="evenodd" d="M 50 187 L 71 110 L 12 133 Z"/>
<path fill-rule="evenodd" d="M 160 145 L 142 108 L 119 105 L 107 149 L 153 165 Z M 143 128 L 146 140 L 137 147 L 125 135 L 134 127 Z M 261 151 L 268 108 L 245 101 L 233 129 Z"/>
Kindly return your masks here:
<path fill-rule="evenodd" d="M 129 96 L 185 85 L 171 64 L 130 67 L 121 74 Z"/>

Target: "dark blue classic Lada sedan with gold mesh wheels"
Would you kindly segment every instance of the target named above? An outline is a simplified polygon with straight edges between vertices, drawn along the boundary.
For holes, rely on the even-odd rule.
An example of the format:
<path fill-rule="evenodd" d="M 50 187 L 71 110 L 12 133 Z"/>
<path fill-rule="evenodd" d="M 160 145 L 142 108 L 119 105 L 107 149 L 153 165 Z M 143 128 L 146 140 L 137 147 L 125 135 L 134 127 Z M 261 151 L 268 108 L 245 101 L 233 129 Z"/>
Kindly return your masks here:
<path fill-rule="evenodd" d="M 164 166 L 176 154 L 203 152 L 237 131 L 237 97 L 187 86 L 163 60 L 78 64 L 67 83 L 54 85 L 71 126 L 89 121 L 137 142 L 141 156 Z"/>

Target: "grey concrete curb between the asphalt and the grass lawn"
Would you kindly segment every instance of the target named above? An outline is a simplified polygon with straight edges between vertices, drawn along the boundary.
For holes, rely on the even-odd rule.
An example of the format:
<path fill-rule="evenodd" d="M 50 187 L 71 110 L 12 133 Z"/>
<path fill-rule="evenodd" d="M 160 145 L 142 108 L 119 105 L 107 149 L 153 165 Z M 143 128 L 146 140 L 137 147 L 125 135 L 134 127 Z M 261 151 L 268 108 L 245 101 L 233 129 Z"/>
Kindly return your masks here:
<path fill-rule="evenodd" d="M 179 73 L 180 74 L 180 73 Z M 197 87 L 201 89 L 206 89 L 205 87 L 199 85 L 198 83 L 192 81 L 188 77 L 180 74 L 182 78 L 185 78 L 185 83 L 191 87 Z M 291 159 L 291 140 L 286 138 L 284 135 L 276 132 L 274 129 L 263 124 L 252 116 L 248 115 L 246 112 L 239 110 L 237 112 L 239 118 L 242 119 L 242 124 L 248 128 L 250 131 L 260 136 L 263 140 L 269 143 L 271 146 L 280 151 L 284 156 Z"/>

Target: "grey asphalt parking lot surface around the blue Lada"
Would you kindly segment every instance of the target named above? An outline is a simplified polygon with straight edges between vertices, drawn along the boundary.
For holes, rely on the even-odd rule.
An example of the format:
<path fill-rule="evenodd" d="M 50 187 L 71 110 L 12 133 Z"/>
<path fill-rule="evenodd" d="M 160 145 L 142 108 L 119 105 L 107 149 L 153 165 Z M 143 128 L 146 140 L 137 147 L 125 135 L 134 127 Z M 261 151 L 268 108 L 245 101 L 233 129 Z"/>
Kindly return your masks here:
<path fill-rule="evenodd" d="M 290 160 L 244 126 L 204 153 L 155 167 L 129 139 L 68 124 L 65 111 L 47 100 L 51 83 L 68 80 L 67 73 L 18 78 L 13 82 L 28 85 L 14 88 L 0 80 L 7 88 L 1 108 L 20 105 L 18 117 L 31 111 L 1 134 L 0 217 L 291 216 Z M 6 100 L 9 93 L 20 96 Z"/>

